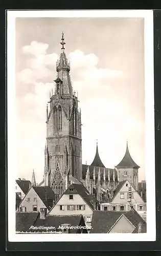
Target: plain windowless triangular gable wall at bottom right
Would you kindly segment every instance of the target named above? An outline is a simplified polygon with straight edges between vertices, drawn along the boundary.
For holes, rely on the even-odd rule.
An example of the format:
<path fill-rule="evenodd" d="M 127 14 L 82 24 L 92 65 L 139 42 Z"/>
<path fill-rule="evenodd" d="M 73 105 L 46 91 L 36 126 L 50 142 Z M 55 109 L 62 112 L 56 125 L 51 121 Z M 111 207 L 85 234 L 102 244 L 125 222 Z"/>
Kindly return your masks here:
<path fill-rule="evenodd" d="M 108 233 L 132 233 L 135 227 L 132 223 L 122 215 L 121 218 L 113 225 Z"/>

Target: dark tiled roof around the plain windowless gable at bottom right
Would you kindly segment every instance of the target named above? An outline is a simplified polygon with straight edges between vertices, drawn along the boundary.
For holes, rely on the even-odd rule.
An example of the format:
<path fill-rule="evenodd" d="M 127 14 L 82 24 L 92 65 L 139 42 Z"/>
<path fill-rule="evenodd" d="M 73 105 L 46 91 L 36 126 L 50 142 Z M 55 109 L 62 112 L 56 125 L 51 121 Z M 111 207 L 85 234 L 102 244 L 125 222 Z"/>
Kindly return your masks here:
<path fill-rule="evenodd" d="M 93 211 L 93 218 L 91 220 L 91 226 L 93 229 L 90 233 L 108 233 L 112 226 L 119 220 L 119 218 L 124 215 L 135 227 L 133 233 L 138 232 L 138 225 L 142 223 L 141 232 L 146 232 L 146 222 L 142 217 L 137 214 L 134 209 L 130 211 Z"/>

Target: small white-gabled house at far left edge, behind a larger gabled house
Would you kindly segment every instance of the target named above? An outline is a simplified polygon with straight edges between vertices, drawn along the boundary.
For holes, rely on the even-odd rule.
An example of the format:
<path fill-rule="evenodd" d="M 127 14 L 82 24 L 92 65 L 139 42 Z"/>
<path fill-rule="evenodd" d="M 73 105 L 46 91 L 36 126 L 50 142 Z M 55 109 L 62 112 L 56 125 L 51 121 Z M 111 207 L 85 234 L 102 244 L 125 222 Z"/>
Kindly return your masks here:
<path fill-rule="evenodd" d="M 19 178 L 18 180 L 16 180 L 15 183 L 16 183 L 15 184 L 16 193 L 22 200 L 31 187 L 31 181 Z"/>

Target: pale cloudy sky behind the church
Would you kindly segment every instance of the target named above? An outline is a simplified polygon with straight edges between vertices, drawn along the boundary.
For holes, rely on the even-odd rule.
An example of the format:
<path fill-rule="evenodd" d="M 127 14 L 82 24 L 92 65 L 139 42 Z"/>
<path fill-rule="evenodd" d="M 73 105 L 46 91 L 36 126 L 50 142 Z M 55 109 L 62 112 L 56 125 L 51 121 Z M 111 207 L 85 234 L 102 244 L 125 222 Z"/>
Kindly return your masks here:
<path fill-rule="evenodd" d="M 144 19 L 16 18 L 17 178 L 43 177 L 46 105 L 64 32 L 73 88 L 82 112 L 82 161 L 98 139 L 106 167 L 126 151 L 145 179 Z"/>

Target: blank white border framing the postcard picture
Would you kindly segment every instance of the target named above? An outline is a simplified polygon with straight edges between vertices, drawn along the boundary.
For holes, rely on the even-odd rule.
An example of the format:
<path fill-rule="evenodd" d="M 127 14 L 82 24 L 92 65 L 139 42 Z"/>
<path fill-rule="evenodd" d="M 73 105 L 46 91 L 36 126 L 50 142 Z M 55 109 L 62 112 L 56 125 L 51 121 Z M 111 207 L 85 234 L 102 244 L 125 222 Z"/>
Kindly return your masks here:
<path fill-rule="evenodd" d="M 127 234 L 16 234 L 15 233 L 15 18 L 16 17 L 144 17 L 145 20 L 145 120 L 147 233 Z M 45 241 L 155 241 L 155 142 L 154 71 L 152 10 L 22 10 L 7 11 L 7 101 L 8 101 L 8 240 L 10 242 Z M 25 163 L 24 163 L 25 164 Z"/>

